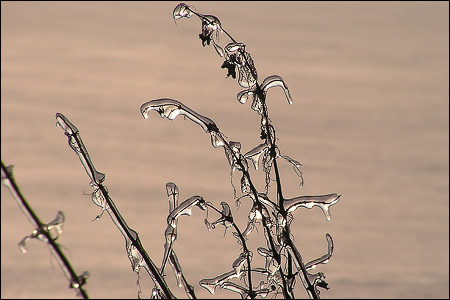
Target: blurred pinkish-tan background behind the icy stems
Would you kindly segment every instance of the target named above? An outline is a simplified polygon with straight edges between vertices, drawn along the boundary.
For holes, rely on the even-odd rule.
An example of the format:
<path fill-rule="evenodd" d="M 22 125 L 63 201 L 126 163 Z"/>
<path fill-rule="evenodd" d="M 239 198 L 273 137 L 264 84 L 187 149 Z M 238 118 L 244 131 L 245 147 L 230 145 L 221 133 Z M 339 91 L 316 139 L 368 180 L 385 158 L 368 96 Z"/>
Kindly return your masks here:
<path fill-rule="evenodd" d="M 214 49 L 201 46 L 200 21 L 175 25 L 176 4 L 1 3 L 1 158 L 15 166 L 42 220 L 64 211 L 58 242 L 78 273 L 90 272 L 92 298 L 135 298 L 137 278 L 109 217 L 92 222 L 100 209 L 84 195 L 89 179 L 55 127 L 56 112 L 78 127 L 111 197 L 158 265 L 166 182 L 178 185 L 180 200 L 227 201 L 242 224 L 249 209 L 244 201 L 236 212 L 224 153 L 201 128 L 140 115 L 144 102 L 171 97 L 213 119 L 243 151 L 259 142 L 259 118 L 236 101 L 241 89 L 225 78 Z M 331 222 L 318 208 L 294 213 L 305 260 L 326 252 L 326 232 L 335 242 L 333 258 L 317 269 L 331 288 L 321 297 L 448 298 L 448 2 L 189 4 L 247 44 L 261 79 L 286 81 L 293 105 L 272 89 L 269 112 L 282 153 L 303 164 L 305 186 L 298 189 L 285 165 L 285 195 L 342 195 Z M 231 232 L 208 232 L 203 218 L 198 209 L 181 218 L 175 245 L 200 298 L 212 295 L 198 281 L 229 271 L 239 254 Z M 2 187 L 1 297 L 74 297 L 43 243 L 30 241 L 20 253 L 18 242 L 32 230 Z M 148 297 L 147 285 L 143 292 Z"/>

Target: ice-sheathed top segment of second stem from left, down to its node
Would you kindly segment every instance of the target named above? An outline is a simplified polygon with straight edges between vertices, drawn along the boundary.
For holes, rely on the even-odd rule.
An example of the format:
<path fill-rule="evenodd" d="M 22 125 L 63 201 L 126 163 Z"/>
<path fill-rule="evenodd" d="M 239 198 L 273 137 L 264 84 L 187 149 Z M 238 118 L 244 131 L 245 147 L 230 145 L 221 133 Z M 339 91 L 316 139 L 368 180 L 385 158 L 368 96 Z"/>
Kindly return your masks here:
<path fill-rule="evenodd" d="M 61 127 L 64 130 L 64 134 L 68 137 L 69 146 L 80 158 L 81 164 L 83 165 L 86 173 L 91 178 L 91 186 L 96 186 L 105 180 L 105 174 L 98 172 L 94 164 L 91 161 L 89 153 L 81 140 L 78 128 L 73 125 L 69 119 L 67 119 L 63 114 L 56 113 L 56 126 Z"/>

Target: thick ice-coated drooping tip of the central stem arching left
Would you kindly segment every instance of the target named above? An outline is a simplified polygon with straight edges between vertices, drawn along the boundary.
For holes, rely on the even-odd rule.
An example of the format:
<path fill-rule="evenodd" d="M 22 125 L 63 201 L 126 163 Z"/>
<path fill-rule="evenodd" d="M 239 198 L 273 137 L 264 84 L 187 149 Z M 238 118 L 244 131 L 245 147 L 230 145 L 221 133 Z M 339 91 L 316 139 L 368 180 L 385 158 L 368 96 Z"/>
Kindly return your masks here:
<path fill-rule="evenodd" d="M 151 110 L 158 112 L 161 117 L 166 117 L 169 120 L 175 119 L 178 115 L 183 115 L 194 123 L 200 125 L 200 127 L 202 127 L 207 133 L 219 132 L 219 129 L 213 120 L 202 116 L 183 103 L 174 99 L 156 99 L 141 105 L 141 114 L 145 119 L 148 119 L 148 114 Z"/>

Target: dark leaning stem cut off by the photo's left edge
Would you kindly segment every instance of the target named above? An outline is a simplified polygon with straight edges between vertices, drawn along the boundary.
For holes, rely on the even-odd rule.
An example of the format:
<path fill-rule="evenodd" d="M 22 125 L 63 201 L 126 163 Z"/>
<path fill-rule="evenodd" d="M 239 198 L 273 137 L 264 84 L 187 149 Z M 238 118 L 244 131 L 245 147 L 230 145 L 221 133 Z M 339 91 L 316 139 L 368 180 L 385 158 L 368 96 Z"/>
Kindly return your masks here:
<path fill-rule="evenodd" d="M 40 240 L 44 241 L 50 249 L 50 252 L 58 261 L 61 269 L 64 272 L 64 275 L 70 282 L 69 287 L 74 288 L 77 291 L 77 294 L 83 297 L 83 299 L 88 299 L 88 295 L 86 291 L 82 288 L 82 286 L 86 283 L 86 278 L 89 276 L 87 272 L 84 272 L 83 275 L 78 276 L 77 273 L 72 268 L 69 260 L 66 258 L 64 253 L 61 251 L 59 245 L 56 243 L 56 238 L 53 238 L 50 231 L 49 225 L 42 223 L 36 213 L 33 211 L 31 206 L 28 204 L 25 197 L 22 195 L 12 173 L 12 166 L 6 167 L 1 162 L 2 168 L 2 184 L 8 187 L 11 192 L 13 198 L 18 203 L 19 207 L 22 209 L 24 214 L 28 217 L 30 222 L 35 227 L 33 231 L 32 237 L 37 237 Z M 62 213 L 59 212 L 61 215 Z M 63 215 L 62 215 L 63 216 Z M 43 235 L 43 236 L 42 236 Z"/>

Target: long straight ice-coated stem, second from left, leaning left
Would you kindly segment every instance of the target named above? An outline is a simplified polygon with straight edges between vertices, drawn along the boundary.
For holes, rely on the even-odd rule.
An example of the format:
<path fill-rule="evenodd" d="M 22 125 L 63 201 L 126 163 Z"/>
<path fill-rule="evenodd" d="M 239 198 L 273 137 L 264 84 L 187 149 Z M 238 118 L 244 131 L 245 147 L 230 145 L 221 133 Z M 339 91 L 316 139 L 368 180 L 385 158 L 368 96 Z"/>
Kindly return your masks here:
<path fill-rule="evenodd" d="M 125 240 L 127 242 L 126 243 L 127 252 L 129 259 L 132 263 L 133 270 L 135 272 L 138 272 L 140 267 L 144 267 L 148 272 L 148 274 L 150 275 L 150 277 L 152 278 L 152 280 L 154 281 L 154 283 L 157 285 L 158 289 L 162 292 L 163 296 L 168 299 L 174 298 L 174 295 L 170 291 L 166 281 L 159 274 L 156 265 L 150 259 L 150 256 L 148 255 L 147 251 L 145 251 L 144 247 L 142 246 L 138 233 L 127 225 L 122 215 L 120 214 L 119 210 L 117 209 L 116 205 L 114 204 L 113 200 L 109 196 L 106 187 L 102 184 L 102 182 L 105 179 L 105 175 L 103 173 L 98 172 L 95 169 L 90 159 L 89 153 L 80 137 L 78 128 L 75 127 L 75 125 L 73 125 L 69 121 L 69 119 L 67 119 L 61 113 L 56 113 L 56 120 L 57 120 L 56 125 L 60 126 L 64 130 L 64 134 L 68 138 L 69 146 L 78 155 L 81 163 L 83 164 L 83 167 L 85 168 L 87 174 L 91 178 L 90 185 L 97 188 L 96 191 L 93 193 L 93 200 L 95 198 L 96 201 L 98 202 L 102 201 L 104 202 L 103 204 L 104 210 L 107 210 L 112 221 L 115 223 L 119 231 L 125 237 Z M 98 191 L 100 191 L 100 194 L 98 193 Z M 136 250 L 139 253 L 139 255 L 134 254 L 134 250 Z M 144 263 L 141 260 L 143 260 Z"/>

